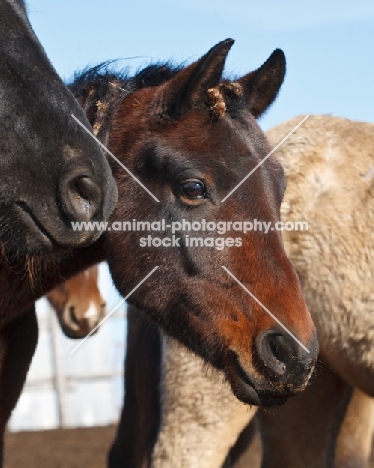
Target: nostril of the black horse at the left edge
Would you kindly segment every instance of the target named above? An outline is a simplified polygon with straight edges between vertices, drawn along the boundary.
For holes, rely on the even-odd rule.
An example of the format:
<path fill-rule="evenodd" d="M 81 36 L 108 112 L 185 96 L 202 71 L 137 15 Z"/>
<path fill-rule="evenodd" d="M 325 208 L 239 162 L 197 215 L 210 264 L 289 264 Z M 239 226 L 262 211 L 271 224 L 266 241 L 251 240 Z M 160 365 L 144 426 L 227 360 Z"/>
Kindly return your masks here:
<path fill-rule="evenodd" d="M 63 210 L 71 221 L 89 221 L 101 210 L 102 190 L 87 175 L 70 174 L 60 192 Z"/>

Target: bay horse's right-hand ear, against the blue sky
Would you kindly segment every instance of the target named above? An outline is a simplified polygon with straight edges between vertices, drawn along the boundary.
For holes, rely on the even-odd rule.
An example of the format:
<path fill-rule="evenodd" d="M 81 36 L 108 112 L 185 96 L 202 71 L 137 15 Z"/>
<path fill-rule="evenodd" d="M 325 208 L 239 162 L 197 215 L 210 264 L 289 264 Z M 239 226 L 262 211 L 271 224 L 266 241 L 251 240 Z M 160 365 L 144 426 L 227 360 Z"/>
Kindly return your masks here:
<path fill-rule="evenodd" d="M 260 117 L 274 102 L 285 73 L 286 58 L 282 50 L 276 49 L 260 68 L 238 80 L 254 117 Z"/>

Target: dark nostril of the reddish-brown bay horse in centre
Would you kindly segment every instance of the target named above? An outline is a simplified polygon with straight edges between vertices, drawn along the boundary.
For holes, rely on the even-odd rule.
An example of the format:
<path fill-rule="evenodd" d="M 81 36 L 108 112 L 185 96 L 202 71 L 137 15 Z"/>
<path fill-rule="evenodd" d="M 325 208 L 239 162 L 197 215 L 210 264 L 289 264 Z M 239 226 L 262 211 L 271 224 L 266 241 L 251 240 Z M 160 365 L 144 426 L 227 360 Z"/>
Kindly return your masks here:
<path fill-rule="evenodd" d="M 261 367 L 267 374 L 282 376 L 290 371 L 295 354 L 291 337 L 280 331 L 268 330 L 257 343 Z"/>

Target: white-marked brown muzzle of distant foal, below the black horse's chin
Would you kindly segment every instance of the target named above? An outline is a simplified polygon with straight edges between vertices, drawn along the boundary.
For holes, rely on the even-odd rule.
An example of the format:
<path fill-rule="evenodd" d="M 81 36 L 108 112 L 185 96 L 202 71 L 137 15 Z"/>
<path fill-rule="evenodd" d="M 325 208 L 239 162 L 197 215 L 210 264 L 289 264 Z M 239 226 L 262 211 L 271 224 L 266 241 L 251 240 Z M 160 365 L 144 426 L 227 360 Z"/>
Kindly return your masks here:
<path fill-rule="evenodd" d="M 104 318 L 106 303 L 97 280 L 98 266 L 94 265 L 46 294 L 68 338 L 84 338 Z"/>

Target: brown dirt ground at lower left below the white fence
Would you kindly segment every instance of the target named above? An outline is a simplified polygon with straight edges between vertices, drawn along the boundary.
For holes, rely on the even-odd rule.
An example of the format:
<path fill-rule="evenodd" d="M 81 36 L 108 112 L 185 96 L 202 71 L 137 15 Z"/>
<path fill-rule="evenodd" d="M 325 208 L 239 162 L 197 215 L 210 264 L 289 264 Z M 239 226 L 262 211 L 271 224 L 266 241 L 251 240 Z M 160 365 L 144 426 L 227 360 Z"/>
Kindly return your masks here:
<path fill-rule="evenodd" d="M 106 468 L 115 430 L 107 426 L 8 433 L 4 468 Z"/>

